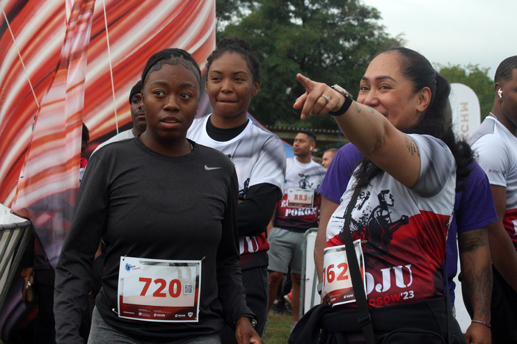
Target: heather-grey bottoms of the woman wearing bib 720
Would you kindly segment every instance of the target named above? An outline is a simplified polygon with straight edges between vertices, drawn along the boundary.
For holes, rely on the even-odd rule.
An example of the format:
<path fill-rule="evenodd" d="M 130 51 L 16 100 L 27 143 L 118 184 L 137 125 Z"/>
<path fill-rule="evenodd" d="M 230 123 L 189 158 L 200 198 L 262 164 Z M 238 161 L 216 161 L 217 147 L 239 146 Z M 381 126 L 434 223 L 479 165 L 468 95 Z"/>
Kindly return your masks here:
<path fill-rule="evenodd" d="M 167 342 L 141 341 L 120 332 L 102 319 L 97 307 L 94 307 L 92 315 L 92 327 L 88 337 L 88 344 L 104 343 L 130 343 L 130 344 L 221 344 L 219 333 L 209 336 L 194 337 L 188 339 L 173 340 Z"/>

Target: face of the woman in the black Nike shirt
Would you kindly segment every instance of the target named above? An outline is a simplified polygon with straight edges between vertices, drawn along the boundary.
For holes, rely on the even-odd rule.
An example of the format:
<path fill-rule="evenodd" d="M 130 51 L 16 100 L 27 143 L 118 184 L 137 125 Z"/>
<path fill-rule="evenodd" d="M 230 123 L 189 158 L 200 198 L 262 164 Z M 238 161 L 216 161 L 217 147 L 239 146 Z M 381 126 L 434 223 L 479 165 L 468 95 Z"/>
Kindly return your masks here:
<path fill-rule="evenodd" d="M 146 131 L 158 140 L 185 138 L 199 102 L 199 83 L 183 65 L 150 72 L 143 88 Z"/>

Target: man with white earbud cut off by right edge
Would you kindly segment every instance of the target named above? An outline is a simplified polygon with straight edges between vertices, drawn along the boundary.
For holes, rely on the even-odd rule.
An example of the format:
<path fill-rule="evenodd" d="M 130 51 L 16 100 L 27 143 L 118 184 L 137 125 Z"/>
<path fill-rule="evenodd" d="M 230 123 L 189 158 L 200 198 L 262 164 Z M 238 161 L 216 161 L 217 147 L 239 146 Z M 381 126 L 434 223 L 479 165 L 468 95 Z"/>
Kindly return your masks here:
<path fill-rule="evenodd" d="M 470 139 L 490 181 L 498 221 L 488 226 L 492 256 L 492 342 L 517 342 L 517 56 L 495 72 L 489 116 Z"/>

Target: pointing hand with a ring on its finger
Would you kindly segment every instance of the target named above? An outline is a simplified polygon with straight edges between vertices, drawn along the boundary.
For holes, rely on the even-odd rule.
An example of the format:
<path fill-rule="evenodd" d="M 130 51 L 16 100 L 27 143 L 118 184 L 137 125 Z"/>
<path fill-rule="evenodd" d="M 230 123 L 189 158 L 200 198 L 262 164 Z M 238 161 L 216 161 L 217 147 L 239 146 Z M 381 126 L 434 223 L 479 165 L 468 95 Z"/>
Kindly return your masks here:
<path fill-rule="evenodd" d="M 338 111 L 346 100 L 341 93 L 327 84 L 312 81 L 300 73 L 296 74 L 296 77 L 305 87 L 305 93 L 298 97 L 293 105 L 294 108 L 302 107 L 301 119 L 306 119 L 309 115 L 323 116 L 330 111 Z"/>

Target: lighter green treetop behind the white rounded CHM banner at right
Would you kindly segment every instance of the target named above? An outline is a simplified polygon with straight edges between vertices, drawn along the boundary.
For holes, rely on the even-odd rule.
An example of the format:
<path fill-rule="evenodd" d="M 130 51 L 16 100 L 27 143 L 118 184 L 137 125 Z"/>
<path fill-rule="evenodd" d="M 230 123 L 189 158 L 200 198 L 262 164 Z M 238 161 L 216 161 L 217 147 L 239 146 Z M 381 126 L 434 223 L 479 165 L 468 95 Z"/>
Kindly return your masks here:
<path fill-rule="evenodd" d="M 494 81 L 488 76 L 489 68 L 479 65 L 449 65 L 439 66 L 439 73 L 449 83 L 460 83 L 472 88 L 479 99 L 481 121 L 489 114 L 494 105 Z"/>

